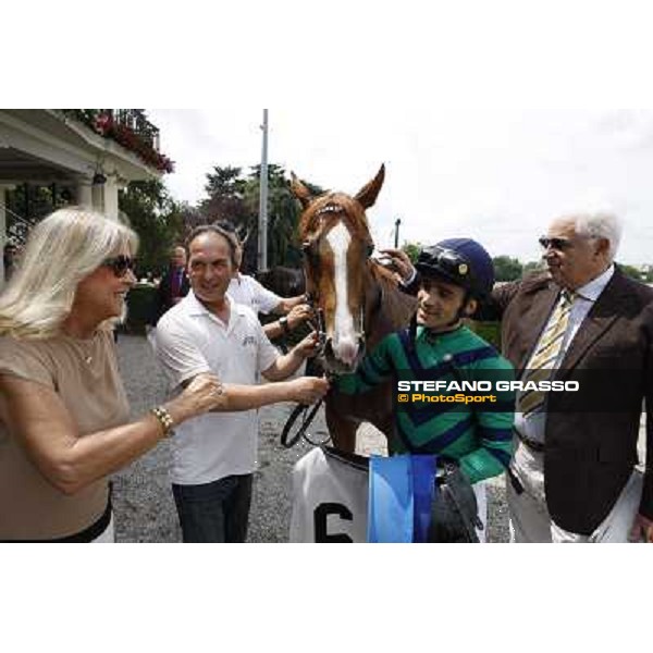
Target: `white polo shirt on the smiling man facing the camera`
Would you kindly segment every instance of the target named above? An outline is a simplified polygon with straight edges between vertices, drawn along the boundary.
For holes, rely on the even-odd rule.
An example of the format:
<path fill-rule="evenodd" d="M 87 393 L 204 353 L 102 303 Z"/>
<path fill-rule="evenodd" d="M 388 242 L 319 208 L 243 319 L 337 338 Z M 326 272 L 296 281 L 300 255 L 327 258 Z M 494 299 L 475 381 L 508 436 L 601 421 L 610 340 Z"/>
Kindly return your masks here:
<path fill-rule="evenodd" d="M 193 291 L 157 324 L 155 350 L 172 387 L 211 371 L 223 383 L 255 384 L 279 353 L 254 311 L 231 305 L 229 324 L 209 312 Z M 197 485 L 256 469 L 256 410 L 210 412 L 186 420 L 172 439 L 173 483 Z"/>

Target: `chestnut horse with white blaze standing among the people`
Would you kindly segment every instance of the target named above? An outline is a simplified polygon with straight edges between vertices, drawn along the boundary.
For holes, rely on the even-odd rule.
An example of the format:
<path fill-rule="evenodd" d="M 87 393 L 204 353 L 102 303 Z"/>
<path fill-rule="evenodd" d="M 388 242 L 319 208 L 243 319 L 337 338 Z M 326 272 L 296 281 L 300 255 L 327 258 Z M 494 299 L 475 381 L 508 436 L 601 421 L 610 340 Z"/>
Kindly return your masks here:
<path fill-rule="evenodd" d="M 365 214 L 381 190 L 385 169 L 355 197 L 325 193 L 313 197 L 293 174 L 292 189 L 301 202 L 299 236 L 306 289 L 321 316 L 320 362 L 330 373 L 356 370 L 366 350 L 406 326 L 415 299 L 397 287 L 392 272 L 370 258 L 374 244 Z M 360 422 L 385 435 L 393 429 L 392 386 L 384 383 L 359 396 L 332 391 L 325 402 L 329 432 L 336 448 L 354 452 Z"/>

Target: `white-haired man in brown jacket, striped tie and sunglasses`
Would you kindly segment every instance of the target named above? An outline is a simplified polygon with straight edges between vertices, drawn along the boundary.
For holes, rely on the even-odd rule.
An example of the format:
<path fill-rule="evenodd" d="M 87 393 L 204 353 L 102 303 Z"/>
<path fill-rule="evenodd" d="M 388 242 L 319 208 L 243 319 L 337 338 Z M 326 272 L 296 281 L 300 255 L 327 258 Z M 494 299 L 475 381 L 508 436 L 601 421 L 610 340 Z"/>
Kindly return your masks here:
<path fill-rule="evenodd" d="M 540 238 L 547 272 L 493 293 L 521 380 L 547 359 L 550 379 L 581 387 L 518 396 L 508 506 L 519 542 L 653 541 L 653 289 L 615 267 L 620 231 L 609 213 L 556 219 Z"/>

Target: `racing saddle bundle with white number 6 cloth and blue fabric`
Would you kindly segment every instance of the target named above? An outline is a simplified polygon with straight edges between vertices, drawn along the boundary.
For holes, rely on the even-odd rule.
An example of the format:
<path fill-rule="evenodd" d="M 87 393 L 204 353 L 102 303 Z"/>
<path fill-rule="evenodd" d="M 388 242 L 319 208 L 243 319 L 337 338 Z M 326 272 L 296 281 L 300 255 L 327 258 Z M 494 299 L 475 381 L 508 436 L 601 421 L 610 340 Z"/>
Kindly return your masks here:
<path fill-rule="evenodd" d="M 475 491 L 433 455 L 316 447 L 293 470 L 291 542 L 478 542 Z"/>

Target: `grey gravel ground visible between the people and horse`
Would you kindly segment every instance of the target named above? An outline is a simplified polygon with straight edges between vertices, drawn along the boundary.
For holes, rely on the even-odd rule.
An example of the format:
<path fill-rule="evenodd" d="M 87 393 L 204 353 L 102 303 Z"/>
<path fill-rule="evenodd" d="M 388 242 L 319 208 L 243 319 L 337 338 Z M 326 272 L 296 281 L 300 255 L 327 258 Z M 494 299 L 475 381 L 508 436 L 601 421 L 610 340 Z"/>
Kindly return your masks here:
<path fill-rule="evenodd" d="M 143 415 L 163 401 L 164 382 L 145 337 L 119 337 L 121 371 L 134 416 Z M 298 444 L 285 449 L 279 443 L 281 429 L 294 405 L 278 404 L 260 412 L 258 471 L 251 510 L 250 542 L 287 542 L 291 516 L 291 470 L 310 445 Z M 320 414 L 310 429 L 321 439 L 325 435 Z M 358 451 L 369 455 L 381 453 L 383 438 L 373 427 L 362 427 Z M 180 542 L 181 532 L 168 481 L 170 449 L 165 442 L 114 477 L 116 540 L 119 542 Z M 489 541 L 507 541 L 507 515 L 503 479 L 489 488 Z"/>

